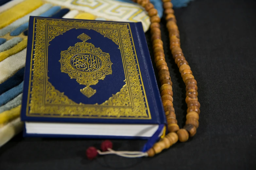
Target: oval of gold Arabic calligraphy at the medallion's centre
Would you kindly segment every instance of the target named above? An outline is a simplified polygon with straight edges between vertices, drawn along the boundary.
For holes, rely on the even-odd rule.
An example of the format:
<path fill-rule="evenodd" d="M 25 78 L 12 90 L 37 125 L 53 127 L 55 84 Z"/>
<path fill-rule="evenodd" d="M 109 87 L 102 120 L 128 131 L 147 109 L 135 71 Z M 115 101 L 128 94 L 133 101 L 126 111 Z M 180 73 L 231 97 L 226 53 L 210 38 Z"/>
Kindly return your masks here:
<path fill-rule="evenodd" d="M 93 72 L 101 68 L 102 62 L 99 57 L 88 54 L 78 53 L 70 58 L 70 64 L 79 71 Z"/>

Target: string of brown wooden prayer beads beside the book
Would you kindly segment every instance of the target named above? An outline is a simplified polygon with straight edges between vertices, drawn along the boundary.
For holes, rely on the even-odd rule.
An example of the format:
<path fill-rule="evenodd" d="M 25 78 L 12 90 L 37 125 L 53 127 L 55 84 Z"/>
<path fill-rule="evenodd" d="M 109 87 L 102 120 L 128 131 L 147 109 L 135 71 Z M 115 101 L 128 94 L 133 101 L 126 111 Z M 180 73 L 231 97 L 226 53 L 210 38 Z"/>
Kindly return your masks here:
<path fill-rule="evenodd" d="M 199 126 L 198 119 L 200 114 L 200 103 L 197 99 L 197 82 L 194 79 L 190 66 L 188 65 L 188 62 L 180 48 L 179 30 L 176 24 L 174 10 L 172 9 L 173 5 L 170 0 L 162 0 L 164 13 L 166 15 L 166 27 L 169 32 L 170 50 L 173 58 L 175 59 L 175 63 L 179 67 L 181 77 L 186 84 L 186 103 L 188 106 L 185 122 L 186 125 L 183 129 L 179 129 L 172 103 L 172 81 L 169 68 L 165 62 L 158 12 L 149 0 L 134 0 L 134 2 L 137 2 L 144 7 L 150 17 L 150 33 L 151 41 L 153 42 L 154 62 L 158 69 L 159 79 L 161 82 L 160 92 L 169 131 L 165 137 L 155 143 L 154 146 L 147 151 L 147 155 L 152 157 L 155 154 L 160 153 L 163 149 L 168 149 L 178 140 L 180 142 L 186 142 L 189 136 L 192 137 L 196 134 L 196 129 Z"/>

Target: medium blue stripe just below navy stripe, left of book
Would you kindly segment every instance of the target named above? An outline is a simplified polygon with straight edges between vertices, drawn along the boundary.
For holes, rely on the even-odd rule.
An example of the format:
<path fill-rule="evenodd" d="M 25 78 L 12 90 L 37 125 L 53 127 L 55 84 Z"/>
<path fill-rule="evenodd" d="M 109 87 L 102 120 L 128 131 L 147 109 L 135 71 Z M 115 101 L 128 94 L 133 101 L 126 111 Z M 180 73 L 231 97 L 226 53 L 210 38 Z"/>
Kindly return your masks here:
<path fill-rule="evenodd" d="M 0 95 L 0 106 L 6 104 L 7 102 L 14 99 L 20 93 L 22 93 L 23 82 L 21 82 L 18 86 L 8 90 L 7 92 Z"/>

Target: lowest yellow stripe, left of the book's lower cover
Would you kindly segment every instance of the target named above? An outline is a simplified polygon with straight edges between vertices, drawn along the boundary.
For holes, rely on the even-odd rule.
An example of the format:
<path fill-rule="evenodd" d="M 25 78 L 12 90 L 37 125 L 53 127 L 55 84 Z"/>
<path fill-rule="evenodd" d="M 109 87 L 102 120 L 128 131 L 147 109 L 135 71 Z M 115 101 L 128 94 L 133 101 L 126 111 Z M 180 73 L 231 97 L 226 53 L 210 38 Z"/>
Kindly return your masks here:
<path fill-rule="evenodd" d="M 0 114 L 0 127 L 10 122 L 11 120 L 18 118 L 20 116 L 20 113 L 21 113 L 21 105 L 2 112 Z"/>

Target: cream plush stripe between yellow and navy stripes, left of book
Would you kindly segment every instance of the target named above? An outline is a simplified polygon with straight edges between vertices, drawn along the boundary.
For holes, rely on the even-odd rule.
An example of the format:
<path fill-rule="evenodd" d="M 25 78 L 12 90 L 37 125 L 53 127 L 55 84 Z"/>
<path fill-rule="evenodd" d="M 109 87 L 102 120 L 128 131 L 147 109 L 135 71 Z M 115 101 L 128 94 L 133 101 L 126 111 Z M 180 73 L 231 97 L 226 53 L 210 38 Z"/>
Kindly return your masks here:
<path fill-rule="evenodd" d="M 0 62 L 0 83 L 13 76 L 19 69 L 25 66 L 26 51 L 24 49 Z"/>

